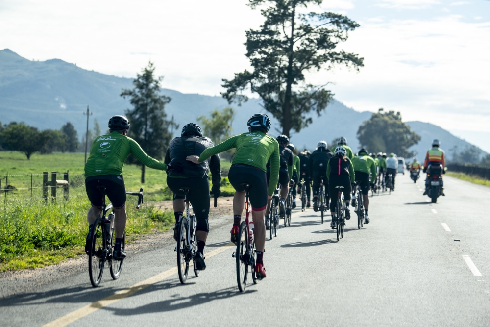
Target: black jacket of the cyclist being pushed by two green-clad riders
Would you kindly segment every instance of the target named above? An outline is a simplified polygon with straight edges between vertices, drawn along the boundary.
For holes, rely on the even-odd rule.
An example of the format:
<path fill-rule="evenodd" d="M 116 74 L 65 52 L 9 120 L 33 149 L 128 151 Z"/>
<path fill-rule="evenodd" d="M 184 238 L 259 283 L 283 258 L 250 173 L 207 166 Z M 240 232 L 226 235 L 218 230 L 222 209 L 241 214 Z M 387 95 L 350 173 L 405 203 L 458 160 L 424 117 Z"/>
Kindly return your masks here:
<path fill-rule="evenodd" d="M 213 142 L 207 137 L 184 136 L 176 137 L 170 142 L 169 148 L 165 153 L 165 163 L 178 162 L 182 165 L 182 172 L 169 171 L 169 177 L 206 177 L 208 178 L 208 168 L 211 170 L 213 186 L 220 185 L 221 182 L 221 161 L 218 154 L 212 155 L 200 164 L 196 165 L 187 161 L 188 155 L 200 156 L 202 151 L 211 148 Z"/>

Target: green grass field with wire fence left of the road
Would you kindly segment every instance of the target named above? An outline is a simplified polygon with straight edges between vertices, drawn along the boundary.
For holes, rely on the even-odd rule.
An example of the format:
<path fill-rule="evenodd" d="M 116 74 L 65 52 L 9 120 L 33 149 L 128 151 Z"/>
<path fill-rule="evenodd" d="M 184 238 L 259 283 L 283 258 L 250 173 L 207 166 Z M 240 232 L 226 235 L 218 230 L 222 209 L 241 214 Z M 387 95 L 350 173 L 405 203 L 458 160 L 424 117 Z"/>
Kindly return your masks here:
<path fill-rule="evenodd" d="M 227 171 L 229 161 L 222 161 Z M 1 188 L 8 184 L 16 189 L 0 193 L 0 271 L 42 267 L 59 263 L 68 257 L 83 253 L 87 232 L 86 213 L 90 202 L 85 194 L 84 154 L 33 154 L 30 160 L 20 152 L 0 151 Z M 43 172 L 70 173 L 70 198 L 64 201 L 58 189 L 56 203 L 45 202 L 42 197 Z M 30 196 L 31 175 L 32 198 Z M 141 233 L 166 231 L 174 221 L 173 212 L 157 210 L 153 201 L 170 200 L 167 174 L 146 169 L 146 182 L 141 183 L 141 168 L 125 165 L 123 171 L 127 191 L 143 187 L 145 205 L 135 209 L 136 199 L 128 197 L 126 236 L 130 242 Z M 49 180 L 51 176 L 49 175 Z M 58 179 L 63 179 L 58 175 Z M 37 188 L 36 188 L 37 187 Z M 222 195 L 233 194 L 227 182 L 222 183 Z"/>

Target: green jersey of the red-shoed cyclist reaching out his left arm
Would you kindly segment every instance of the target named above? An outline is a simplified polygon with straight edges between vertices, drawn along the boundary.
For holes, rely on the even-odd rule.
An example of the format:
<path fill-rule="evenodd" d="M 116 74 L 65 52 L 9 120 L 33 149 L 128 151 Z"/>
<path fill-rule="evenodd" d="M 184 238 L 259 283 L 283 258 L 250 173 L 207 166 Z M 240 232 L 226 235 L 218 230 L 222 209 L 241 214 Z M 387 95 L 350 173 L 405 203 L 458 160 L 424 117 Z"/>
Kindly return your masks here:
<path fill-rule="evenodd" d="M 199 161 L 203 162 L 210 156 L 236 148 L 233 164 L 245 164 L 267 171 L 267 161 L 270 158 L 270 180 L 268 194 L 274 194 L 279 180 L 279 143 L 262 132 L 249 132 L 233 136 L 223 143 L 202 151 Z"/>

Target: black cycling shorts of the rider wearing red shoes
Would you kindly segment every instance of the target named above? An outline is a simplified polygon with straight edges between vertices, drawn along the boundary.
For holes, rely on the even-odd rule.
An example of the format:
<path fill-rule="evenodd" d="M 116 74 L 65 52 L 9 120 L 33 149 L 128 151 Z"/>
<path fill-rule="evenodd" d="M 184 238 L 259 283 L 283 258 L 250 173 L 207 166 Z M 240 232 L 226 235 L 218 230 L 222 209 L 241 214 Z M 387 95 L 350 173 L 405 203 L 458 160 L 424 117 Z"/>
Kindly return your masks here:
<path fill-rule="evenodd" d="M 230 184 L 238 192 L 245 191 L 242 184 L 248 184 L 248 199 L 252 205 L 252 210 L 262 211 L 267 207 L 267 179 L 266 173 L 262 169 L 245 165 L 231 165 L 228 172 Z"/>

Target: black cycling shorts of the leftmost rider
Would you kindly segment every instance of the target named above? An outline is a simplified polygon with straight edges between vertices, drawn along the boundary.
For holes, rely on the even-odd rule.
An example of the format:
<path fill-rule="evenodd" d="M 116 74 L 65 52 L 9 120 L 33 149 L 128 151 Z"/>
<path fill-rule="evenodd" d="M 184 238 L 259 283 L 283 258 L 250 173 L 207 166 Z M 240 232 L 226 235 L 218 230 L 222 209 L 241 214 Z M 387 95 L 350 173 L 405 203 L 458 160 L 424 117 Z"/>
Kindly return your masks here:
<path fill-rule="evenodd" d="M 126 204 L 126 187 L 123 175 L 98 175 L 85 178 L 85 191 L 93 206 L 101 209 L 104 203 L 102 192 L 97 185 L 105 186 L 105 194 L 115 209 Z"/>

